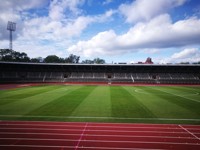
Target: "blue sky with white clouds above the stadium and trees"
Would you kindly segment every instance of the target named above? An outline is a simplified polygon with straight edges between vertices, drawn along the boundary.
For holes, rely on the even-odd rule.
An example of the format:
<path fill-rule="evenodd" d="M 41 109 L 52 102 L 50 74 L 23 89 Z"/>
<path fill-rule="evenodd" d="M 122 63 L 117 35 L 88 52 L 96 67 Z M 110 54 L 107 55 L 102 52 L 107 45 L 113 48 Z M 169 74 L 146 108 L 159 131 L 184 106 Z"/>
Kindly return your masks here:
<path fill-rule="evenodd" d="M 137 63 L 200 61 L 200 0 L 2 0 L 0 49 L 31 58 Z"/>

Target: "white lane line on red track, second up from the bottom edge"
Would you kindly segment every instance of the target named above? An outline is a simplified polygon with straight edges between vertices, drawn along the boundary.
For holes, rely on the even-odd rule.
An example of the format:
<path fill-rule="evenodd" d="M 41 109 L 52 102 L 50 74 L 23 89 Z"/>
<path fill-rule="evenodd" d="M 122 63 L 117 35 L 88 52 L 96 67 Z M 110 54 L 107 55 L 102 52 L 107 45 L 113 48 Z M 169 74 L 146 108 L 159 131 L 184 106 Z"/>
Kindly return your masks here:
<path fill-rule="evenodd" d="M 64 141 L 64 142 L 76 142 L 78 141 L 78 144 L 81 142 L 82 139 L 79 140 L 66 140 L 66 139 L 41 139 L 41 138 L 0 138 L 1 140 L 20 140 L 20 141 Z M 200 143 L 179 143 L 179 142 L 156 142 L 156 141 L 114 141 L 114 140 L 85 140 L 84 142 L 90 142 L 92 143 L 147 143 L 147 144 L 173 144 L 173 145 L 199 145 Z M 78 148 L 79 145 L 75 146 L 75 149 Z"/>

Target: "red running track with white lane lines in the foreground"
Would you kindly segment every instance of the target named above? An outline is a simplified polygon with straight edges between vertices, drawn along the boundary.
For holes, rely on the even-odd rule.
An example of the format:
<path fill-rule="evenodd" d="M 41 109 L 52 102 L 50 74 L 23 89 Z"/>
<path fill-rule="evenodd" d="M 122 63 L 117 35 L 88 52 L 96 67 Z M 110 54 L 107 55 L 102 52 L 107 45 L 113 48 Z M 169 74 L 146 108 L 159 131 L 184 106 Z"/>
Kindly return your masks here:
<path fill-rule="evenodd" d="M 1 150 L 200 149 L 200 125 L 0 121 Z"/>

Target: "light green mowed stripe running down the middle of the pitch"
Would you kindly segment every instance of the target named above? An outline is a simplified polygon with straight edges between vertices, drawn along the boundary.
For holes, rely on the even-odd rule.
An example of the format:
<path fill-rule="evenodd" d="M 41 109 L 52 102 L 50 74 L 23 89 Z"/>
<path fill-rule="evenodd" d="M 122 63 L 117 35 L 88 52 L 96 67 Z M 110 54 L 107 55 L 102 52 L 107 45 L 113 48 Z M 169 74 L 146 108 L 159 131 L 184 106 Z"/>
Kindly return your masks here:
<path fill-rule="evenodd" d="M 110 117 L 111 109 L 110 87 L 96 86 L 71 115 L 84 117 Z"/>

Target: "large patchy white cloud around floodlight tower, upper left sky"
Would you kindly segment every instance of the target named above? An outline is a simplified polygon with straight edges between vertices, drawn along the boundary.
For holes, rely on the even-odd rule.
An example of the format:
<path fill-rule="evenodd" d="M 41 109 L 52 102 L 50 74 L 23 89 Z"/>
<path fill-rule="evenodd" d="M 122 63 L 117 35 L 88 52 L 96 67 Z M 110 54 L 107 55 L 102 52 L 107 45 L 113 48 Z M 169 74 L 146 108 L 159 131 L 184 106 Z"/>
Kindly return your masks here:
<path fill-rule="evenodd" d="M 8 0 L 7 3 L 0 4 L 0 8 L 7 8 L 5 11 L 0 10 L 0 21 L 4 20 L 0 22 L 0 26 L 5 28 L 0 33 L 0 38 L 8 39 L 6 24 L 9 19 L 17 22 L 17 32 L 13 35 L 20 35 L 13 43 L 15 50 L 25 51 L 31 57 L 45 56 L 48 52 L 62 56 L 61 52 L 57 51 L 62 51 L 62 54 L 66 53 L 64 50 L 69 46 L 73 37 L 78 37 L 89 24 L 105 22 L 116 13 L 114 10 L 108 10 L 99 15 L 82 15 L 79 6 L 84 2 L 85 0 L 30 0 L 29 2 Z M 44 5 L 47 7 L 43 10 L 43 15 L 29 12 L 29 9 L 38 10 Z M 6 42 L 0 41 L 2 48 L 8 45 Z"/>

